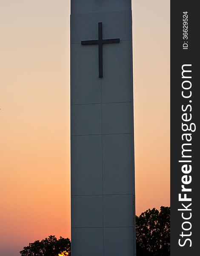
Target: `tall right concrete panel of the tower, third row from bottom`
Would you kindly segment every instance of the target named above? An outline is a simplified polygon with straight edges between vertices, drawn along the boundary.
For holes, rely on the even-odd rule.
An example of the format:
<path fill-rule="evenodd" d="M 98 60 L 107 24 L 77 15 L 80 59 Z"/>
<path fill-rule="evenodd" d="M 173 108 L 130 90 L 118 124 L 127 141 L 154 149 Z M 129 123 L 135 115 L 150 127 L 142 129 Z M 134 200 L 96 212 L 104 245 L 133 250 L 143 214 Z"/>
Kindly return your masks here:
<path fill-rule="evenodd" d="M 133 194 L 133 134 L 103 135 L 103 193 Z"/>

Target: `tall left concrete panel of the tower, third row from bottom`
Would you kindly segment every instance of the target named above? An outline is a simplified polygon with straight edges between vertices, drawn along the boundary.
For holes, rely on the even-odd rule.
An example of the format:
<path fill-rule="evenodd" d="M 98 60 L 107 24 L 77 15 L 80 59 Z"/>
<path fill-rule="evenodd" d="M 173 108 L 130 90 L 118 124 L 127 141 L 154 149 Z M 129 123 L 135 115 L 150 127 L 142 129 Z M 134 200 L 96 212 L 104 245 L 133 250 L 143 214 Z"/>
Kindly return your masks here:
<path fill-rule="evenodd" d="M 102 195 L 102 136 L 71 138 L 71 195 Z"/>

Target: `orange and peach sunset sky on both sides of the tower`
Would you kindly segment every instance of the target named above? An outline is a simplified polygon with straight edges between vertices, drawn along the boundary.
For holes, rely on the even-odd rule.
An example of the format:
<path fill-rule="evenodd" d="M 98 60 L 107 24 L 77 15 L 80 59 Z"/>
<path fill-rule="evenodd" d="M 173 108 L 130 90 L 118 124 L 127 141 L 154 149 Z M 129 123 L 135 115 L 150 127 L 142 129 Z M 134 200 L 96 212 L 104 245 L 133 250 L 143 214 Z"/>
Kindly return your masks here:
<path fill-rule="evenodd" d="M 169 0 L 134 0 L 136 212 L 169 206 Z M 69 0 L 0 0 L 0 256 L 70 237 Z"/>

